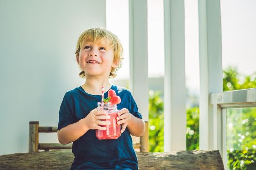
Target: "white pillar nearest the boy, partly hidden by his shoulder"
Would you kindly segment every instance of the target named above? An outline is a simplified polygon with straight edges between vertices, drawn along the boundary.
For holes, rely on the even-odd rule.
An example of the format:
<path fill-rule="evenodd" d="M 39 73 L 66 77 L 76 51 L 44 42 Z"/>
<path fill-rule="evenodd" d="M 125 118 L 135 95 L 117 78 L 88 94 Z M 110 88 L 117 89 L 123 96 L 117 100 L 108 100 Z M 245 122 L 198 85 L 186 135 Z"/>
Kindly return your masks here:
<path fill-rule="evenodd" d="M 129 25 L 129 88 L 143 119 L 148 121 L 147 0 L 129 0 Z"/>

